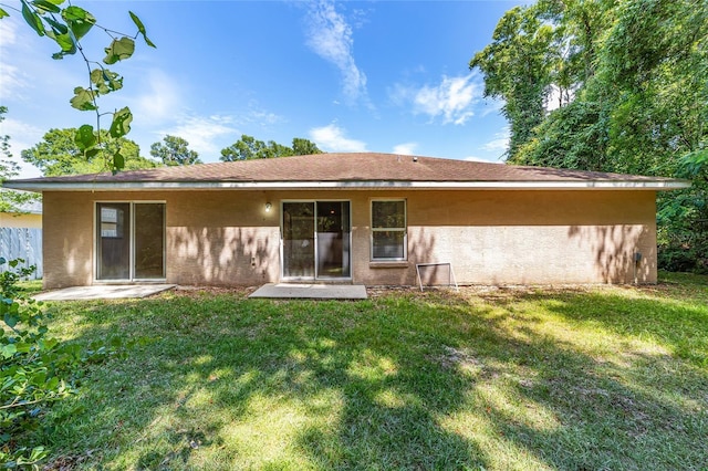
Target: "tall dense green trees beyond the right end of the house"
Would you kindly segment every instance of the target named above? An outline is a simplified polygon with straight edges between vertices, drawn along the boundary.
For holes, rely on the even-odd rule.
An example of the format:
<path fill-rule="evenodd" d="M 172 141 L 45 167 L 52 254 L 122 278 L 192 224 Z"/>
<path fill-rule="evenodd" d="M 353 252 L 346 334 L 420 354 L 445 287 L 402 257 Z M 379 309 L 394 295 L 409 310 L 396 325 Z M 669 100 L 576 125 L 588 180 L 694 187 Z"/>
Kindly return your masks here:
<path fill-rule="evenodd" d="M 539 0 L 470 67 L 504 101 L 509 163 L 690 179 L 659 197 L 659 263 L 708 273 L 707 2 Z"/>

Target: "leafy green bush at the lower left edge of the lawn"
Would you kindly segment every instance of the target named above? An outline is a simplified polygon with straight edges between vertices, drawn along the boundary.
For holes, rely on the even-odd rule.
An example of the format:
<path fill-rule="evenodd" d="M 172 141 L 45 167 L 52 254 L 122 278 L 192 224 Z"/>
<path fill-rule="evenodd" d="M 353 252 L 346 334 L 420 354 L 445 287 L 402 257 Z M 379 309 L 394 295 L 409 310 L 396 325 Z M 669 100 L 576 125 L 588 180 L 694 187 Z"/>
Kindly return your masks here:
<path fill-rule="evenodd" d="M 28 435 L 52 430 L 49 407 L 76 394 L 85 367 L 114 355 L 101 341 L 61 342 L 49 334 L 49 315 L 19 285 L 34 266 L 8 261 L 0 272 L 0 467 L 30 468 L 46 458 L 46 440 L 25 440 Z M 6 260 L 0 258 L 0 264 Z M 30 283 L 33 286 L 35 283 Z M 30 444 L 32 443 L 32 444 Z"/>

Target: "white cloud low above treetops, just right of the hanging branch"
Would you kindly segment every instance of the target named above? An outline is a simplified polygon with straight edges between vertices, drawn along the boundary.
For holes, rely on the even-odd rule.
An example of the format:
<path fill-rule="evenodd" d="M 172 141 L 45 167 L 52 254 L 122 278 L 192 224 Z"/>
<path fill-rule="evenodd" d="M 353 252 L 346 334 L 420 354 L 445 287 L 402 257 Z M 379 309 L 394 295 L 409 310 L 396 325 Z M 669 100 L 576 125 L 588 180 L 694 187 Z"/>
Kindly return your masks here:
<path fill-rule="evenodd" d="M 210 161 L 221 149 L 216 140 L 222 136 L 236 135 L 237 129 L 228 116 L 188 116 L 180 118 L 175 126 L 155 134 L 158 135 L 158 140 L 167 134 L 181 137 L 189 143 L 190 149 L 199 153 L 202 161 Z"/>

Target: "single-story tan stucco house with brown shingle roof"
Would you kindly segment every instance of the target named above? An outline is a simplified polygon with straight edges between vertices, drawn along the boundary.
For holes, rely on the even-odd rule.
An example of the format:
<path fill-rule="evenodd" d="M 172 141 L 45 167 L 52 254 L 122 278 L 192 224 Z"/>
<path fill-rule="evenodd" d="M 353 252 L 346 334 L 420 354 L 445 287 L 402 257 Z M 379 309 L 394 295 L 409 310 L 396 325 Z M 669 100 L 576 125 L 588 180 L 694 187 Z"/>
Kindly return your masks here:
<path fill-rule="evenodd" d="M 6 182 L 43 195 L 46 289 L 654 283 L 656 192 L 688 185 L 374 153 Z"/>

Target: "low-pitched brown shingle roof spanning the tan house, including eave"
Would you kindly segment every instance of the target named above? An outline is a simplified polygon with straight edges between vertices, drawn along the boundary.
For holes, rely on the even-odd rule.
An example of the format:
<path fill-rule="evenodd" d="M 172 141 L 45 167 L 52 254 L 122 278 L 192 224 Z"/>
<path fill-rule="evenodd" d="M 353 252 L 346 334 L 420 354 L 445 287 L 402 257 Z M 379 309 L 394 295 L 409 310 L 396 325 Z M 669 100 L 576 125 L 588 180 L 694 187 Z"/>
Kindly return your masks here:
<path fill-rule="evenodd" d="M 31 191 L 156 189 L 676 189 L 687 180 L 396 154 L 316 154 L 8 180 Z"/>

